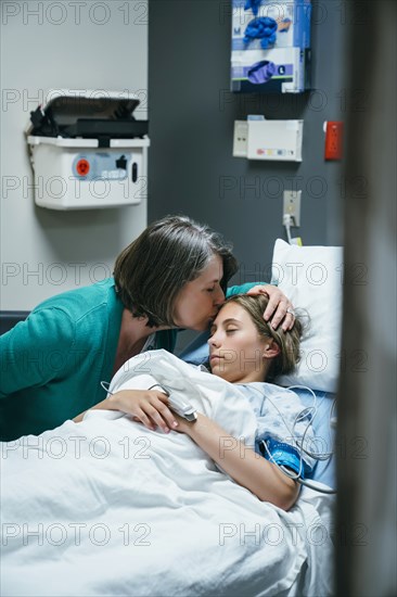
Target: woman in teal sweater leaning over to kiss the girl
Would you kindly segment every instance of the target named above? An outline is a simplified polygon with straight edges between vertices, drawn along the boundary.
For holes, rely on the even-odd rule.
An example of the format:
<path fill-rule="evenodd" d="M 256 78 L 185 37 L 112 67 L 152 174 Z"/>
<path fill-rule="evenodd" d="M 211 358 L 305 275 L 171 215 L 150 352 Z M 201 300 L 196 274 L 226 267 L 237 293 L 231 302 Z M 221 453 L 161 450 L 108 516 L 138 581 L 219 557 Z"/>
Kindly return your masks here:
<path fill-rule="evenodd" d="M 203 331 L 225 301 L 238 269 L 220 234 L 188 217 L 149 226 L 116 259 L 114 278 L 38 305 L 0 338 L 0 440 L 39 434 L 106 396 L 131 356 L 175 348 L 179 328 Z M 228 295 L 254 284 L 229 289 Z M 292 305 L 266 285 L 274 328 L 294 323 Z M 262 292 L 255 287 L 252 293 Z"/>

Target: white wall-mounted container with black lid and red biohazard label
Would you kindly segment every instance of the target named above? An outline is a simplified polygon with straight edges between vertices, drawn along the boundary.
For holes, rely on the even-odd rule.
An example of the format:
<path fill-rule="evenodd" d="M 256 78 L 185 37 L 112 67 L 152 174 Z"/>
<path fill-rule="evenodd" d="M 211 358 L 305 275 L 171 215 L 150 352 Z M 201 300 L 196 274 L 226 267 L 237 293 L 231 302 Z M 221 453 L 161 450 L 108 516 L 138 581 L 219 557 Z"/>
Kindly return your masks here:
<path fill-rule="evenodd" d="M 35 202 L 51 209 L 120 207 L 148 190 L 148 120 L 135 93 L 50 91 L 26 127 Z"/>

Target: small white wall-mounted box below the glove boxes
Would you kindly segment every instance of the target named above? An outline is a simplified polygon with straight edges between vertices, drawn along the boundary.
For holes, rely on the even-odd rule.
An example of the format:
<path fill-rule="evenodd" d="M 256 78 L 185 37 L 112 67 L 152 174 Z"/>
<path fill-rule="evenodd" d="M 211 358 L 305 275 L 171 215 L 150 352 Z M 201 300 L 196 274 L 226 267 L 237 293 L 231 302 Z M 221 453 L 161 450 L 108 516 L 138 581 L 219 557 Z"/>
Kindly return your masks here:
<path fill-rule="evenodd" d="M 303 120 L 235 120 L 233 156 L 302 162 L 303 129 Z"/>

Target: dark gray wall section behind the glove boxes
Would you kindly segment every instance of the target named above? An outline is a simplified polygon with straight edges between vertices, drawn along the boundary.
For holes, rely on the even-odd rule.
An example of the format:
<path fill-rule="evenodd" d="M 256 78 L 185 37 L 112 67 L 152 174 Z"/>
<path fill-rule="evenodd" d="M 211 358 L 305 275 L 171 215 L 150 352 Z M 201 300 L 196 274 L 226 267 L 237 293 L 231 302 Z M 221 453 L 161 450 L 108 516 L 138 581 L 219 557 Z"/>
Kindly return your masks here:
<path fill-rule="evenodd" d="M 235 94 L 230 7 L 229 0 L 149 2 L 149 220 L 185 213 L 220 230 L 234 243 L 235 281 L 243 282 L 268 279 L 274 240 L 285 238 L 283 189 L 303 190 L 295 231 L 305 244 L 342 244 L 340 165 L 323 160 L 323 122 L 344 117 L 346 27 L 341 2 L 313 2 L 313 90 Z M 249 113 L 303 118 L 303 163 L 233 157 L 233 122 Z"/>

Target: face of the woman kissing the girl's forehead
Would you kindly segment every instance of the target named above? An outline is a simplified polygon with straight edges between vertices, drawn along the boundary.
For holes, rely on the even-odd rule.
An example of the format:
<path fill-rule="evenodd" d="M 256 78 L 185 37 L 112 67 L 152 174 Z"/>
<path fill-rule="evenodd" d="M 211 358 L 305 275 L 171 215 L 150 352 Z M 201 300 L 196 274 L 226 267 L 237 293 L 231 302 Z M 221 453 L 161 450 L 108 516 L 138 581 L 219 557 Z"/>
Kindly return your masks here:
<path fill-rule="evenodd" d="M 208 329 L 225 302 L 225 294 L 219 285 L 222 277 L 222 259 L 214 255 L 198 278 L 188 282 L 178 294 L 174 316 L 178 328 L 197 331 Z"/>

